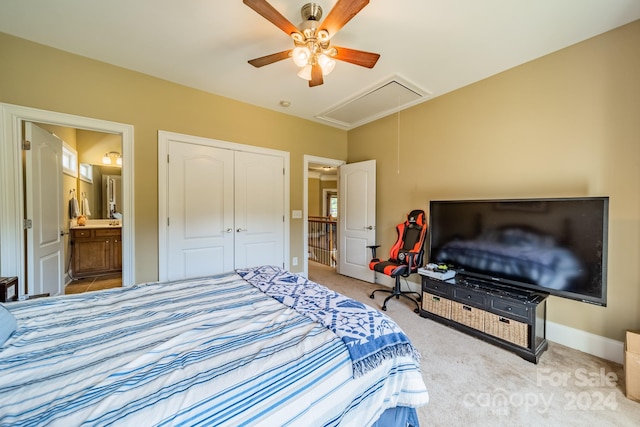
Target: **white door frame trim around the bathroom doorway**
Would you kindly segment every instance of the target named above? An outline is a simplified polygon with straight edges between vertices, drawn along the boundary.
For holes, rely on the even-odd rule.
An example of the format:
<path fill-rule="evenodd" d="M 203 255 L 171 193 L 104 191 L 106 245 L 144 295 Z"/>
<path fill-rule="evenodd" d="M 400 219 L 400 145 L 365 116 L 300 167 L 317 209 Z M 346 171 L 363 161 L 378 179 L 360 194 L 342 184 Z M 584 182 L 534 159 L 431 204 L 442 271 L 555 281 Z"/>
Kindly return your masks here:
<path fill-rule="evenodd" d="M 64 126 L 87 131 L 120 135 L 122 141 L 122 283 L 135 283 L 134 271 L 134 206 L 133 206 L 133 126 L 38 110 L 11 104 L 0 104 L 2 129 L 0 133 L 0 271 L 3 276 L 18 277 L 19 297 L 27 296 L 27 267 L 31 260 L 25 256 L 24 241 L 25 191 L 22 165 L 23 124 L 25 122 Z"/>

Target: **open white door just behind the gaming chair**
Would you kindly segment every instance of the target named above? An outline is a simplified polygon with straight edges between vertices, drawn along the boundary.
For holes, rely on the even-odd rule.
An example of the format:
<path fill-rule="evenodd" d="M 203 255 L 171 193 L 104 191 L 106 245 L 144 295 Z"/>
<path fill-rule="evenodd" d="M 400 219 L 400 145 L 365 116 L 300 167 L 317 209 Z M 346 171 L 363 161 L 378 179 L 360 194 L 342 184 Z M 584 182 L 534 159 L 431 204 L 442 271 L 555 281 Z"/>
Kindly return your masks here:
<path fill-rule="evenodd" d="M 369 269 L 376 241 L 376 161 L 339 168 L 338 273 L 373 283 Z"/>

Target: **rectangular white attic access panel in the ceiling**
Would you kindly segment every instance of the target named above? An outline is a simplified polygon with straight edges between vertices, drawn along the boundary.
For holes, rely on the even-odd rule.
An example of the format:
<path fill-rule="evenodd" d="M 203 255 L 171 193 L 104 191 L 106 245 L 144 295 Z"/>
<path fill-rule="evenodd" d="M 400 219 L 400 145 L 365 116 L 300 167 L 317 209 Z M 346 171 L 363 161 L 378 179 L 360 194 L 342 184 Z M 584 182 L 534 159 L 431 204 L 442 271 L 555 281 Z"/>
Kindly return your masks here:
<path fill-rule="evenodd" d="M 428 97 L 427 91 L 393 76 L 316 118 L 352 129 L 426 101 Z"/>

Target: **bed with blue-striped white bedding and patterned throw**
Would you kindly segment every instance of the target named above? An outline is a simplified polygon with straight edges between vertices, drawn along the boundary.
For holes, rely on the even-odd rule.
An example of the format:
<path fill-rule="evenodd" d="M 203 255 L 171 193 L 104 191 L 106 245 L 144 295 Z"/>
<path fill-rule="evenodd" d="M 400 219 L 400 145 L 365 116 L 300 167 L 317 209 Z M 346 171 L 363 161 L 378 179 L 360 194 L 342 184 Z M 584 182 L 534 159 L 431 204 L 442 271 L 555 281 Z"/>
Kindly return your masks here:
<path fill-rule="evenodd" d="M 428 401 L 393 320 L 277 267 L 0 310 L 2 426 L 407 426 Z"/>

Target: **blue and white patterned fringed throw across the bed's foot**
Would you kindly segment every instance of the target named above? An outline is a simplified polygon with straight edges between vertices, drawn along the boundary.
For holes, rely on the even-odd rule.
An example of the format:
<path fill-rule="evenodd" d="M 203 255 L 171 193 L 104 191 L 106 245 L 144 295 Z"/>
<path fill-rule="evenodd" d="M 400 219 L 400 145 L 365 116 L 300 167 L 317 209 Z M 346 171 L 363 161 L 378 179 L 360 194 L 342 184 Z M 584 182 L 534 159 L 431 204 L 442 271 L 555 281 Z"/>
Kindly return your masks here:
<path fill-rule="evenodd" d="M 278 267 L 240 269 L 237 273 L 265 294 L 338 335 L 349 350 L 354 378 L 398 356 L 420 362 L 420 354 L 402 329 L 378 310 Z"/>

